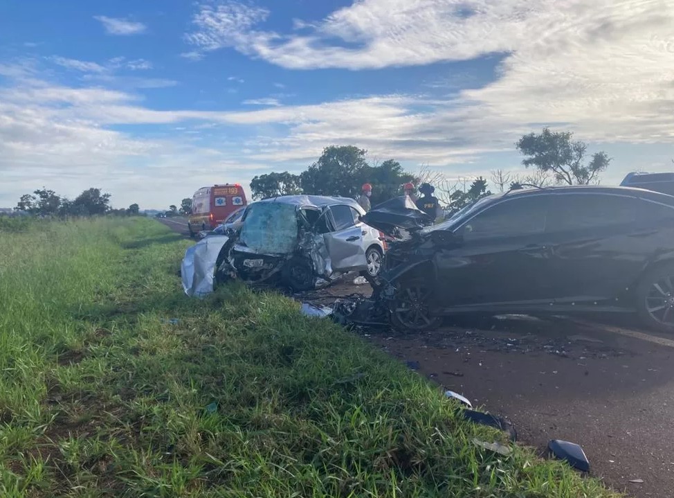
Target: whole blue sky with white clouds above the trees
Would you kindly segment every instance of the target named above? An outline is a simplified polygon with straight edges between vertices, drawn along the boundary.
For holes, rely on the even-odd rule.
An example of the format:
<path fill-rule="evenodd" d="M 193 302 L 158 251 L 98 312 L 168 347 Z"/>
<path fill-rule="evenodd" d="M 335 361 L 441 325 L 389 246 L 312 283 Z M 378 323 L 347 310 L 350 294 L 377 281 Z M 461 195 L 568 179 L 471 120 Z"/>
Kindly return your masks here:
<path fill-rule="evenodd" d="M 674 165 L 668 0 L 45 1 L 0 6 L 0 206 L 98 186 L 165 208 L 331 144 L 446 176 L 522 172 L 543 125 Z"/>

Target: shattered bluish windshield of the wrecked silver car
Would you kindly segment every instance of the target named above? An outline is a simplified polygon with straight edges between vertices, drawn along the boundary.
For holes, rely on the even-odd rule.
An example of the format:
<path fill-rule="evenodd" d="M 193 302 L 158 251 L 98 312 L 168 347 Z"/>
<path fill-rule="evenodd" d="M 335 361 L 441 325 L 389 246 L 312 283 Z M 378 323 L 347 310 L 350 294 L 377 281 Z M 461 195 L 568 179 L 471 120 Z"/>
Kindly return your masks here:
<path fill-rule="evenodd" d="M 289 254 L 297 237 L 296 206 L 261 202 L 248 207 L 239 241 L 259 254 Z"/>

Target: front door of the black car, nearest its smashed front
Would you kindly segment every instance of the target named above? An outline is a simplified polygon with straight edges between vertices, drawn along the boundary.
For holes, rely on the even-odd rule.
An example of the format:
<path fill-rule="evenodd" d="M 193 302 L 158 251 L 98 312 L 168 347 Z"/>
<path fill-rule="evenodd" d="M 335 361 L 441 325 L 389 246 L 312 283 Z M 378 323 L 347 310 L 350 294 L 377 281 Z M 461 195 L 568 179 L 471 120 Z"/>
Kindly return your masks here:
<path fill-rule="evenodd" d="M 441 308 L 549 299 L 548 195 L 505 197 L 455 229 L 459 242 L 435 255 Z"/>

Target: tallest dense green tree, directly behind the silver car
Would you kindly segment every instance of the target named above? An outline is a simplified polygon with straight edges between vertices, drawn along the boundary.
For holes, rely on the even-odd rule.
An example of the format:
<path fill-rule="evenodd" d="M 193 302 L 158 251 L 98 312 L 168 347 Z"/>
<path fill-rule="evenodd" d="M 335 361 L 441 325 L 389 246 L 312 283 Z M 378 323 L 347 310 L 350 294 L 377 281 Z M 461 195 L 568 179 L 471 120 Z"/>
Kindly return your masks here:
<path fill-rule="evenodd" d="M 355 145 L 330 145 L 318 161 L 300 175 L 304 193 L 356 197 L 361 192 L 365 149 Z"/>

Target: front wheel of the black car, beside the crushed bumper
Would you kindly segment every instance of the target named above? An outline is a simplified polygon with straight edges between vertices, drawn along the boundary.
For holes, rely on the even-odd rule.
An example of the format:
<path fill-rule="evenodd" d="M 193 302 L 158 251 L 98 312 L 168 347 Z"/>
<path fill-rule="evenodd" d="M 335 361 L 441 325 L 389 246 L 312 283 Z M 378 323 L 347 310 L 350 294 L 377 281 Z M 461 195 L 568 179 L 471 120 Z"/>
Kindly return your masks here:
<path fill-rule="evenodd" d="M 391 324 L 401 332 L 426 332 L 442 323 L 430 314 L 433 289 L 421 279 L 402 281 L 391 306 Z"/>

